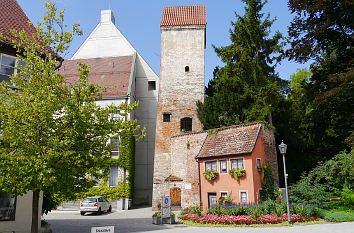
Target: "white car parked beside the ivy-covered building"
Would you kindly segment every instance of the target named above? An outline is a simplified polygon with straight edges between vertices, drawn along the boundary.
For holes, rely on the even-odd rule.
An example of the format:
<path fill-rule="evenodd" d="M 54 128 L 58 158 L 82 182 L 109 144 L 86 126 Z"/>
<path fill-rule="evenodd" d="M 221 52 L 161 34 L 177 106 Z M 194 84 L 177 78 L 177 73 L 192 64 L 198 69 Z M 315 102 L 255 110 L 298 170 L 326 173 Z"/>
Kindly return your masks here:
<path fill-rule="evenodd" d="M 87 197 L 80 203 L 80 214 L 84 215 L 87 212 L 101 214 L 102 212 L 111 212 L 112 205 L 104 197 Z"/>

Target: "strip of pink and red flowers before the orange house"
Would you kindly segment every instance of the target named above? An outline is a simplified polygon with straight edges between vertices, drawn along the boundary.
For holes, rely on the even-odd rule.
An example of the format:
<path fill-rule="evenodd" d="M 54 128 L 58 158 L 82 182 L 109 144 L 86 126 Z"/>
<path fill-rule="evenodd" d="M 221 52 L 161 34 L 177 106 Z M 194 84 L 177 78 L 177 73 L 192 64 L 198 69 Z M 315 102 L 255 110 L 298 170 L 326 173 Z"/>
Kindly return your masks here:
<path fill-rule="evenodd" d="M 186 214 L 182 218 L 182 220 L 189 220 L 196 223 L 201 224 L 224 224 L 224 225 L 251 225 L 251 224 L 277 224 L 288 221 L 288 216 L 283 214 L 279 217 L 276 215 L 260 215 L 260 217 L 256 218 L 254 216 L 247 215 L 213 215 L 213 214 L 202 214 L 199 216 L 198 214 Z M 309 216 L 309 217 L 301 217 L 298 214 L 292 214 L 290 216 L 291 222 L 308 222 L 308 221 L 317 221 L 319 220 L 317 217 Z"/>

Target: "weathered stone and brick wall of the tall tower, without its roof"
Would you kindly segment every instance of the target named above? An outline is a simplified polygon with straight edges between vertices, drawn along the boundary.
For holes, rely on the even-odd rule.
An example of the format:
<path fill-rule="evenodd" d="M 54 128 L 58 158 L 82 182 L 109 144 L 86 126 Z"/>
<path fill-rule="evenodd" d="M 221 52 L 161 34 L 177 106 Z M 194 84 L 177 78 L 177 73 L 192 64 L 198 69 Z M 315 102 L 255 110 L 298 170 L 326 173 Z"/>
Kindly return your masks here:
<path fill-rule="evenodd" d="M 183 177 L 179 177 L 183 180 L 179 183 L 177 181 L 174 183 L 165 182 L 165 180 L 170 175 L 175 175 L 174 172 L 179 171 L 180 167 L 174 167 L 174 164 L 183 166 L 187 161 L 193 161 L 194 166 L 197 166 L 194 161 L 196 154 L 191 151 L 179 154 L 180 151 L 175 151 L 172 148 L 171 137 L 185 134 L 181 132 L 181 119 L 185 117 L 192 118 L 192 131 L 202 130 L 202 125 L 197 117 L 196 102 L 204 100 L 204 49 L 205 25 L 161 27 L 161 67 L 156 116 L 153 208 L 157 207 L 163 195 L 169 195 L 171 185 L 181 188 L 182 203 L 186 203 L 184 199 L 189 196 L 199 198 L 199 188 L 197 188 L 199 184 L 196 183 L 195 175 L 191 177 L 183 175 Z M 170 122 L 163 122 L 163 114 L 170 114 Z M 173 143 L 176 142 L 173 141 Z M 185 141 L 182 144 L 186 147 Z M 182 160 L 182 157 L 186 161 Z M 195 174 L 198 174 L 198 169 L 195 168 Z M 182 172 L 182 170 L 180 171 Z M 189 187 L 191 188 L 189 189 Z M 199 202 L 194 199 L 190 200 L 190 198 L 187 198 L 186 201 Z"/>

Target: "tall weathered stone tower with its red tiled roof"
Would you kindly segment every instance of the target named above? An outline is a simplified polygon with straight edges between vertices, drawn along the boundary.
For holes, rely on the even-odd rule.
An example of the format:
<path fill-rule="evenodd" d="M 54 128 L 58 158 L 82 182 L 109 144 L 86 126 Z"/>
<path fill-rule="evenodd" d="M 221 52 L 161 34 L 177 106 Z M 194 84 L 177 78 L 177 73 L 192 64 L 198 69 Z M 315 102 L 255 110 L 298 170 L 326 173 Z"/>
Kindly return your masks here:
<path fill-rule="evenodd" d="M 153 208 L 162 196 L 170 195 L 168 182 L 171 179 L 184 180 L 175 176 L 171 168 L 174 161 L 171 159 L 171 137 L 202 130 L 196 102 L 204 100 L 206 6 L 165 7 L 160 29 Z M 179 192 L 183 196 L 183 192 Z"/>

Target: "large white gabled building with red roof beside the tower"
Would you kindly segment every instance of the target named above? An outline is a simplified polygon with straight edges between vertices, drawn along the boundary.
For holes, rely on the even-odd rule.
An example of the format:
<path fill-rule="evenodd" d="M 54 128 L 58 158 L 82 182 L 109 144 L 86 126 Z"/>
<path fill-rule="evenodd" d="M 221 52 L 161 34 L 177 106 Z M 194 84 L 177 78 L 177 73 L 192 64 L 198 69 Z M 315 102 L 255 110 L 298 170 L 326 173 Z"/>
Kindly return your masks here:
<path fill-rule="evenodd" d="M 99 105 L 140 102 L 140 107 L 128 116 L 145 126 L 147 133 L 144 141 L 136 143 L 133 203 L 151 205 L 158 76 L 115 26 L 111 10 L 101 11 L 98 25 L 73 57 L 64 61 L 60 72 L 69 81 L 78 76 L 79 60 L 91 67 L 90 82 L 107 87 Z M 118 177 L 117 170 L 111 169 L 113 180 Z"/>

